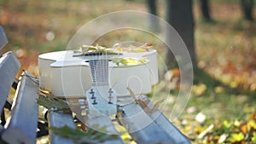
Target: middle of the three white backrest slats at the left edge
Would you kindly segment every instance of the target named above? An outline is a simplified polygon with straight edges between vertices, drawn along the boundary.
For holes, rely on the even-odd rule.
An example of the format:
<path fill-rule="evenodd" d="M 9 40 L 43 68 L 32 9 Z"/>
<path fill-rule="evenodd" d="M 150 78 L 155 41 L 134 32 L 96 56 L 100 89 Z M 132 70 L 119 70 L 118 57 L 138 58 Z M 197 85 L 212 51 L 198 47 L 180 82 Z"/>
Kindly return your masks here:
<path fill-rule="evenodd" d="M 8 52 L 0 58 L 0 115 L 19 68 L 20 62 L 12 52 Z"/>

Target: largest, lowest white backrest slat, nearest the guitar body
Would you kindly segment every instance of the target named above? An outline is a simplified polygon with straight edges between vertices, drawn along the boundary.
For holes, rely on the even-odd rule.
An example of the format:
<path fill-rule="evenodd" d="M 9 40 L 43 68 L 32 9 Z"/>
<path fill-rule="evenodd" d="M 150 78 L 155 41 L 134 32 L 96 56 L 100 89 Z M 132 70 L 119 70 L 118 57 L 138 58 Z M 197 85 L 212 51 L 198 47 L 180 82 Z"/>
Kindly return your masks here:
<path fill-rule="evenodd" d="M 33 144 L 38 126 L 38 82 L 27 72 L 22 75 L 2 139 L 9 143 Z"/>

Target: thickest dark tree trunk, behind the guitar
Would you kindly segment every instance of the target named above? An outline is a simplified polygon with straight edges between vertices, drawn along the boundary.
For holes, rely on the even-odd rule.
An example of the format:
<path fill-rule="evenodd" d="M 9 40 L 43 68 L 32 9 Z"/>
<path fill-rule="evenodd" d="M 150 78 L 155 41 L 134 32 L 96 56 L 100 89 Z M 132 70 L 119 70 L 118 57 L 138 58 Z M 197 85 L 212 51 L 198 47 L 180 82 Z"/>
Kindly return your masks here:
<path fill-rule="evenodd" d="M 196 67 L 192 0 L 166 0 L 166 21 L 183 38 L 183 42 L 189 50 L 193 66 Z M 166 58 L 167 64 L 171 65 L 173 62 L 171 50 L 166 53 Z"/>

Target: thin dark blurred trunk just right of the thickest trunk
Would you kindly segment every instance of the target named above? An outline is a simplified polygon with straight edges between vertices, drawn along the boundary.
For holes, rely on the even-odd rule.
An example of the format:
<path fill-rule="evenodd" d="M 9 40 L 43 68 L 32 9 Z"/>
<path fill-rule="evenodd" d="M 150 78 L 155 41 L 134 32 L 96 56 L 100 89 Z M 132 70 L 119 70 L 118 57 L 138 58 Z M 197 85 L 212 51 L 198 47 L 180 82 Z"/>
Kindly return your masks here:
<path fill-rule="evenodd" d="M 201 14 L 203 14 L 204 20 L 207 22 L 211 22 L 212 16 L 211 16 L 211 9 L 209 7 L 209 1 L 200 0 L 200 6 L 201 6 Z"/>

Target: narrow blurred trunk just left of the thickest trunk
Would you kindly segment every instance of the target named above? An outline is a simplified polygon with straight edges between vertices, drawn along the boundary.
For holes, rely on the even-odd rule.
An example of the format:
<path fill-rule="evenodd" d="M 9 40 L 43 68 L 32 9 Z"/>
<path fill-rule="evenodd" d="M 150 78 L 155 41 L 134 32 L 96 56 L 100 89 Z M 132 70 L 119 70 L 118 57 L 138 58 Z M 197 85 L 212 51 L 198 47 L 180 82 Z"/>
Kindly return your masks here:
<path fill-rule="evenodd" d="M 158 15 L 157 14 L 157 4 L 155 0 L 147 0 L 148 3 L 148 11 L 150 14 Z M 160 27 L 159 27 L 159 21 L 158 19 L 154 17 L 150 17 L 150 24 L 151 24 L 151 29 L 153 32 L 159 32 Z"/>

